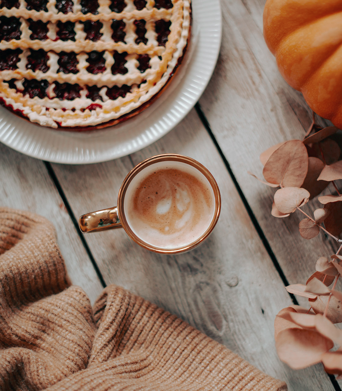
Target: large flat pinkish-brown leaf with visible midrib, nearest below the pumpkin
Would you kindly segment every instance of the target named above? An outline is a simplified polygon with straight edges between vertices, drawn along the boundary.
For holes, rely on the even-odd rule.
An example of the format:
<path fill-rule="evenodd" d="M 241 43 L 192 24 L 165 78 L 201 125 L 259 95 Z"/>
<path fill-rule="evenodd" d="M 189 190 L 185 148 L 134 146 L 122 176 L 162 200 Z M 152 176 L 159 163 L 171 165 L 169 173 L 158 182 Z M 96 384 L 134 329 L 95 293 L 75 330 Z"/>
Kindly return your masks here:
<path fill-rule="evenodd" d="M 308 152 L 300 140 L 286 141 L 267 160 L 263 176 L 267 182 L 300 187 L 308 172 Z"/>

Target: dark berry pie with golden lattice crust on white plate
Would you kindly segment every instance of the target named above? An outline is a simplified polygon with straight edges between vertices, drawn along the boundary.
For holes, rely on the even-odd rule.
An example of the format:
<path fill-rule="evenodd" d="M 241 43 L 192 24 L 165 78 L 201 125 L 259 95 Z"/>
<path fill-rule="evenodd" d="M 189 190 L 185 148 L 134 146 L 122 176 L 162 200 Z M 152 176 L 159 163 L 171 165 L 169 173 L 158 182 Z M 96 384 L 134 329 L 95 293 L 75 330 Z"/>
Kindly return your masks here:
<path fill-rule="evenodd" d="M 163 90 L 190 26 L 190 0 L 0 0 L 0 102 L 53 128 L 118 123 Z"/>

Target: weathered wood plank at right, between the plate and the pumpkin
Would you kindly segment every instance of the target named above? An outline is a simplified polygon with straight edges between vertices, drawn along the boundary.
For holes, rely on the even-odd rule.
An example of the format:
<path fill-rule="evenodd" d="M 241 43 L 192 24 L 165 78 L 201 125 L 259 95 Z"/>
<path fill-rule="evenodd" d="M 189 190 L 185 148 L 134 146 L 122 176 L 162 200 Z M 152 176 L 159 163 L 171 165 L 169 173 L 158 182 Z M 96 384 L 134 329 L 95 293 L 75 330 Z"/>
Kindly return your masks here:
<path fill-rule="evenodd" d="M 304 283 L 317 258 L 335 252 L 336 242 L 322 234 L 311 240 L 301 238 L 301 215 L 270 216 L 274 190 L 247 174 L 251 170 L 262 176 L 260 152 L 284 140 L 303 138 L 312 116 L 303 97 L 282 79 L 263 41 L 263 4 L 258 0 L 222 3 L 221 53 L 200 104 L 286 278 Z M 312 213 L 317 207 L 321 207 L 318 201 L 304 209 Z M 317 382 L 313 389 L 333 386 Z"/>

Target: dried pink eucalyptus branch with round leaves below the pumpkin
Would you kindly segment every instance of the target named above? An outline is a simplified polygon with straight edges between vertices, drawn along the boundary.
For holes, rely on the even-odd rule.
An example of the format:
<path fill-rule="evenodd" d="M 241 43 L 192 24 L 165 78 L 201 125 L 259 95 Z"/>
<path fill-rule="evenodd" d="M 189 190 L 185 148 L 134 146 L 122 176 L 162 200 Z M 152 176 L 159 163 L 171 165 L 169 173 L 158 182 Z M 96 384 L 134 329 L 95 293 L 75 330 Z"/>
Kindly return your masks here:
<path fill-rule="evenodd" d="M 257 179 L 270 187 L 279 187 L 271 214 L 287 217 L 295 211 L 302 213 L 305 218 L 299 222 L 299 233 L 304 239 L 312 239 L 322 230 L 342 242 L 342 195 L 335 183 L 342 179 L 342 139 L 337 131 L 332 126 L 318 127 L 313 113 L 313 122 L 303 140 L 279 143 L 260 155 L 265 180 Z M 311 217 L 301 206 L 321 194 L 329 183 L 336 194 L 318 197 L 324 206 Z M 292 368 L 322 362 L 328 373 L 342 376 L 342 330 L 334 325 L 342 323 L 342 292 L 336 290 L 342 275 L 340 251 L 342 244 L 330 260 L 321 256 L 305 285 L 286 287 L 288 292 L 307 298 L 310 304 L 309 309 L 297 305 L 283 308 L 275 319 L 278 355 Z M 335 351 L 331 350 L 334 346 L 338 346 Z"/>

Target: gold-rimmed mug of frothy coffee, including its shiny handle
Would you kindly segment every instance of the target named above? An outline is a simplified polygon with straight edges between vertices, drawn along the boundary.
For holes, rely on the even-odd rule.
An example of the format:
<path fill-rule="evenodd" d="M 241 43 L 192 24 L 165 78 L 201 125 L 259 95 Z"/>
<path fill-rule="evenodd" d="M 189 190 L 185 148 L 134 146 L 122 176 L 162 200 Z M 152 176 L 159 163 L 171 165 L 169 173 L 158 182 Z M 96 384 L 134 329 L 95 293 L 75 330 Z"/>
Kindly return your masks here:
<path fill-rule="evenodd" d="M 118 204 L 82 215 L 82 232 L 124 228 L 140 246 L 162 254 L 189 251 L 211 233 L 221 209 L 211 173 L 187 156 L 152 156 L 124 179 Z"/>

